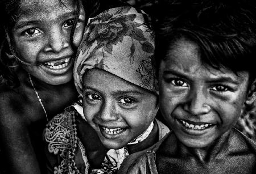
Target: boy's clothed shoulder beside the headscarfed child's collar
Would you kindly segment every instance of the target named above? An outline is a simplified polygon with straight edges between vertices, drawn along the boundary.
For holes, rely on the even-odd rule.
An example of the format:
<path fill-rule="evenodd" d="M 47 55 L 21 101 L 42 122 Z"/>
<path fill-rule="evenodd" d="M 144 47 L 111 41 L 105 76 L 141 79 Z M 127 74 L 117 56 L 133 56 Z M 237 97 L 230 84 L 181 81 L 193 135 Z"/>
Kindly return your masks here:
<path fill-rule="evenodd" d="M 168 138 L 169 134 L 170 133 L 166 134 L 159 142 L 155 143 L 155 145 L 127 156 L 118 173 L 140 173 L 143 169 L 150 169 L 151 173 L 156 173 L 155 152 L 158 151 L 159 146 Z M 145 173 L 147 172 L 145 171 Z"/>

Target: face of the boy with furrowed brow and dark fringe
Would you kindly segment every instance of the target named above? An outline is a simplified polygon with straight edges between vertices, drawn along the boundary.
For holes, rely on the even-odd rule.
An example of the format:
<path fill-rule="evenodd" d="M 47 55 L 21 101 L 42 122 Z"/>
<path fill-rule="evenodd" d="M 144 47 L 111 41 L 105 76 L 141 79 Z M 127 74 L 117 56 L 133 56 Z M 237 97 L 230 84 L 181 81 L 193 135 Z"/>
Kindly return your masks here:
<path fill-rule="evenodd" d="M 238 76 L 239 75 L 239 76 Z M 199 48 L 177 40 L 160 63 L 160 110 L 186 146 L 201 148 L 229 131 L 240 117 L 249 74 L 201 65 Z"/>

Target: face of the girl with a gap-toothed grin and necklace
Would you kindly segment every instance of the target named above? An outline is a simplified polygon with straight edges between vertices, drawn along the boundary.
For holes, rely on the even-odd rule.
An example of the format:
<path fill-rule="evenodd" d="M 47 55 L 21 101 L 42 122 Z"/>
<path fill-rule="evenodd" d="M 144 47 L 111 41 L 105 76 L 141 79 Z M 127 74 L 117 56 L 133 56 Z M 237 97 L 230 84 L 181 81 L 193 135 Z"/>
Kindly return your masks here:
<path fill-rule="evenodd" d="M 48 84 L 57 85 L 72 79 L 76 50 L 70 44 L 75 19 L 75 1 L 22 1 L 13 29 L 14 50 L 24 70 Z M 78 46 L 84 31 L 84 10 L 81 9 L 73 43 Z"/>

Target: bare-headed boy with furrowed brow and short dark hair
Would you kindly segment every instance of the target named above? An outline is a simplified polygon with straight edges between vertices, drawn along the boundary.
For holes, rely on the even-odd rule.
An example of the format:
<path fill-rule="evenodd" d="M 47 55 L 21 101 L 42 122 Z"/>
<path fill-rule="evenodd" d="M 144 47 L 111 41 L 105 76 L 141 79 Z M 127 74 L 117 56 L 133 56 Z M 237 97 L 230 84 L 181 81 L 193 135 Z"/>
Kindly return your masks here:
<path fill-rule="evenodd" d="M 255 173 L 256 143 L 233 128 L 255 101 L 255 3 L 164 7 L 172 10 L 156 28 L 156 88 L 173 131 L 119 173 Z"/>

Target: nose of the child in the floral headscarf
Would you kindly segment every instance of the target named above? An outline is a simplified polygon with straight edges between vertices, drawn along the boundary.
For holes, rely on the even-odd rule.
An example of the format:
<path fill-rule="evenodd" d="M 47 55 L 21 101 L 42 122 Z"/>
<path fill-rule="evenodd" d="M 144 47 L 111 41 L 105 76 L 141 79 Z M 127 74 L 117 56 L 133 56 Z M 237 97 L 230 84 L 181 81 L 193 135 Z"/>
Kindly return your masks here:
<path fill-rule="evenodd" d="M 115 121 L 118 120 L 118 114 L 117 114 L 117 109 L 115 108 L 114 103 L 108 101 L 105 102 L 102 107 L 101 111 L 98 114 L 98 117 L 102 121 Z"/>

